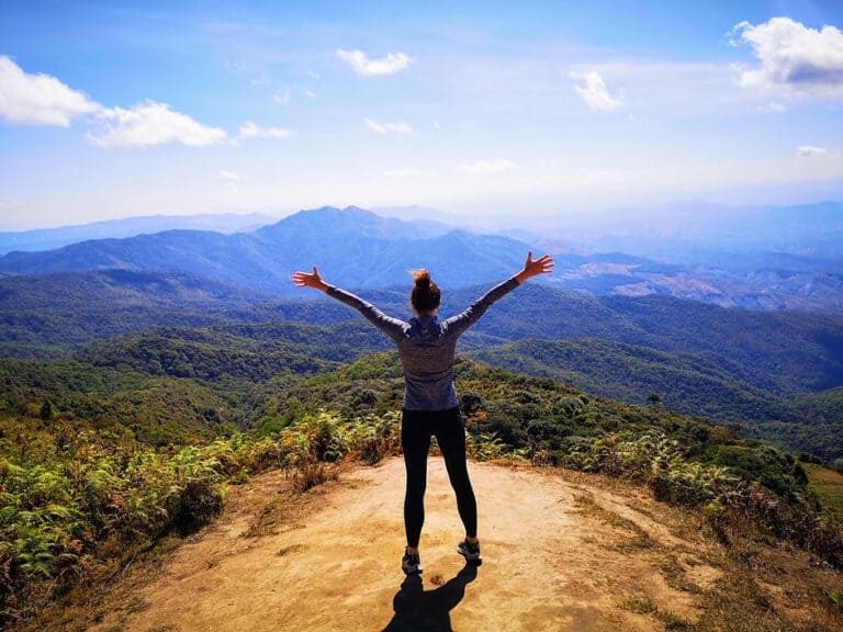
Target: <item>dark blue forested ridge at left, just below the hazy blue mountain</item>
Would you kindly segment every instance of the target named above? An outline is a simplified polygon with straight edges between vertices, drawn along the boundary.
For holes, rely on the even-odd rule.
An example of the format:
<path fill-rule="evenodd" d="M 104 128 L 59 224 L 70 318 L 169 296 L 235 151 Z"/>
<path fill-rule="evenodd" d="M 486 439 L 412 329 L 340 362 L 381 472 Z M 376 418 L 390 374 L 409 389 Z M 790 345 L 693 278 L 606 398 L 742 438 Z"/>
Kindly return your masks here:
<path fill-rule="evenodd" d="M 183 272 L 100 270 L 0 276 L 0 357 L 66 358 L 94 340 L 165 326 L 347 320 L 339 303 L 274 294 Z"/>

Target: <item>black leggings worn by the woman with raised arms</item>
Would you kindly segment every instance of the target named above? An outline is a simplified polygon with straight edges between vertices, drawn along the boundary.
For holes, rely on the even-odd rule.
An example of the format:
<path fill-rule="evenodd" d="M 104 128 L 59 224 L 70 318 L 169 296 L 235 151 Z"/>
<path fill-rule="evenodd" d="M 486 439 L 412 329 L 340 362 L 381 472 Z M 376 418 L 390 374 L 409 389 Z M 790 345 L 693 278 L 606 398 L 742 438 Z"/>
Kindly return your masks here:
<path fill-rule="evenodd" d="M 407 492 L 404 496 L 404 530 L 407 546 L 418 546 L 425 522 L 425 488 L 427 487 L 427 452 L 430 437 L 442 451 L 451 487 L 457 493 L 457 508 L 465 526 L 465 534 L 477 535 L 477 504 L 465 466 L 465 427 L 459 408 L 448 410 L 404 410 L 401 420 L 401 447 L 407 469 Z"/>

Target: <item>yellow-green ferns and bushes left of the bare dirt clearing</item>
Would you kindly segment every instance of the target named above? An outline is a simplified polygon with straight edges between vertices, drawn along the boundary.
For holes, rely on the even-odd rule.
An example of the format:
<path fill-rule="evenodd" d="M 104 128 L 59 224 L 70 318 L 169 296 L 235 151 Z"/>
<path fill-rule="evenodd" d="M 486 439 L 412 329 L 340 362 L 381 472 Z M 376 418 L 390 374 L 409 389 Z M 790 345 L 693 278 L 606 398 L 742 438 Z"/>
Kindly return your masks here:
<path fill-rule="evenodd" d="M 397 419 L 305 415 L 271 437 L 239 432 L 156 449 L 70 415 L 0 420 L 0 622 L 63 590 L 113 575 L 164 534 L 190 533 L 222 509 L 226 481 L 286 467 L 304 492 L 322 463 L 373 463 L 397 451 Z"/>

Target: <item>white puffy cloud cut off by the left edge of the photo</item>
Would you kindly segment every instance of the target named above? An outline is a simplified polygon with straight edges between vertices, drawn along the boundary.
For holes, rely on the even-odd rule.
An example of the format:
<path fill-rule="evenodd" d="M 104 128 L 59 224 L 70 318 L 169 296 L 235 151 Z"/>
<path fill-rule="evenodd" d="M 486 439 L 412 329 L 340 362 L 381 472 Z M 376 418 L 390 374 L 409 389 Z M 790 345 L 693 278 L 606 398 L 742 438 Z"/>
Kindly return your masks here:
<path fill-rule="evenodd" d="M 23 125 L 67 127 L 74 116 L 100 108 L 55 77 L 27 75 L 9 57 L 0 56 L 0 119 Z"/>

